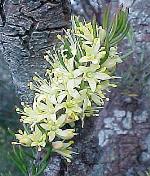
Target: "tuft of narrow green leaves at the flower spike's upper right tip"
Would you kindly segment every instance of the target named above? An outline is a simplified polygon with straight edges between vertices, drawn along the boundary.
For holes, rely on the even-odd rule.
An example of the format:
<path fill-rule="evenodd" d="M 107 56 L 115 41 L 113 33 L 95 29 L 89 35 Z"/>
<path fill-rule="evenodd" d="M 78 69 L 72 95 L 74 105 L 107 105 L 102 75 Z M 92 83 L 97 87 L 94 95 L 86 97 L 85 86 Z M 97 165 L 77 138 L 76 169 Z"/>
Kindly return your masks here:
<path fill-rule="evenodd" d="M 110 47 L 116 46 L 119 42 L 121 42 L 124 39 L 124 37 L 127 36 L 130 29 L 127 9 L 124 11 L 123 8 L 120 7 L 118 12 L 114 16 L 114 19 L 111 24 L 109 24 L 109 20 L 108 20 L 108 16 L 109 16 L 108 14 L 110 13 L 108 11 L 110 11 L 109 7 L 105 9 L 104 16 L 103 16 L 103 27 L 107 29 L 106 39 L 104 44 L 106 48 L 106 55 L 103 59 L 101 59 L 100 64 L 103 64 L 108 59 Z"/>

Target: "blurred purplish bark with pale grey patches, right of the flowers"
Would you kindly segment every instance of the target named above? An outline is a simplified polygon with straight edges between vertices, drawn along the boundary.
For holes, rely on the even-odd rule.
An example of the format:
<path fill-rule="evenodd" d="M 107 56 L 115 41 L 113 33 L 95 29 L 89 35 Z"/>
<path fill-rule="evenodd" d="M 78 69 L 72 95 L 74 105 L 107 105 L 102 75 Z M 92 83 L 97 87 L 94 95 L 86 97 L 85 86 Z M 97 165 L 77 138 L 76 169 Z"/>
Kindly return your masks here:
<path fill-rule="evenodd" d="M 123 0 L 121 0 L 123 2 Z M 128 1 L 129 2 L 129 1 Z M 124 0 L 126 4 L 127 1 Z M 145 175 L 150 166 L 150 0 L 130 1 L 133 55 L 119 66 L 121 85 L 101 114 L 96 176 Z M 127 42 L 121 46 L 126 51 Z M 100 167 L 104 164 L 105 167 Z"/>

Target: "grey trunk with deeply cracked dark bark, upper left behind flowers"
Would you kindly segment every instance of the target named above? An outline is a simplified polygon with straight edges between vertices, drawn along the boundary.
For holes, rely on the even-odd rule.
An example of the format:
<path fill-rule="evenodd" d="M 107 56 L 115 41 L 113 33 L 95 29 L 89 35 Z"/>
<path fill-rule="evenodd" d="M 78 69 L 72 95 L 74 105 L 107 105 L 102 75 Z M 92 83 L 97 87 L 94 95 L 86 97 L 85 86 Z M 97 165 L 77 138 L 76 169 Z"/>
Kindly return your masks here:
<path fill-rule="evenodd" d="M 0 0 L 0 50 L 21 100 L 31 100 L 27 83 L 47 67 L 43 59 L 56 33 L 69 25 L 69 0 Z"/>

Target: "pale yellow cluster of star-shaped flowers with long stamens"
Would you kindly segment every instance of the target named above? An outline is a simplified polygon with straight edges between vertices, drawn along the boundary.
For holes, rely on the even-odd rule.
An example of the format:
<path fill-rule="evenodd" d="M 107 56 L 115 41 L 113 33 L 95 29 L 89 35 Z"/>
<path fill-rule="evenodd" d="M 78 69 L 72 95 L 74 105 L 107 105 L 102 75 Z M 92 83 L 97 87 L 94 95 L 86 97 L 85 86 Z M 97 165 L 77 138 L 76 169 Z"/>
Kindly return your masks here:
<path fill-rule="evenodd" d="M 46 78 L 33 77 L 31 90 L 35 91 L 32 107 L 24 105 L 21 122 L 28 130 L 19 131 L 19 144 L 52 147 L 54 152 L 70 161 L 74 125 L 101 107 L 112 84 L 112 70 L 121 62 L 117 48 L 105 47 L 106 31 L 96 24 L 73 19 L 72 28 L 58 35 L 61 44 L 47 51 L 45 59 L 51 67 Z M 105 62 L 101 63 L 101 60 Z"/>

